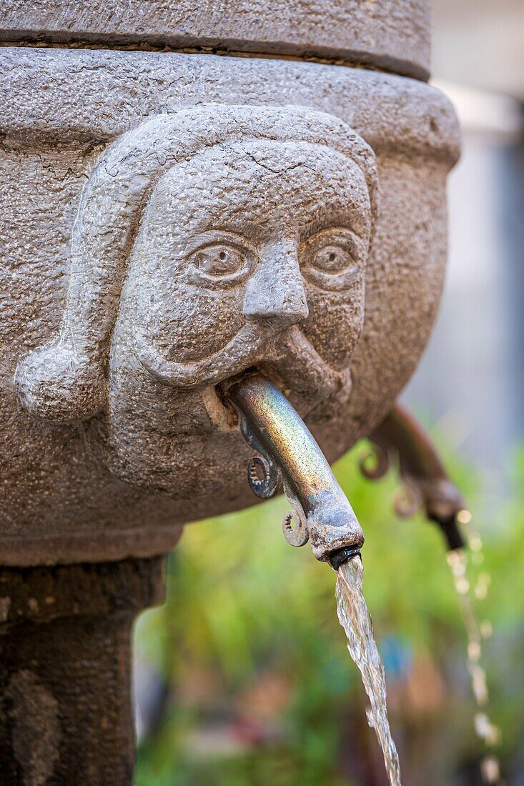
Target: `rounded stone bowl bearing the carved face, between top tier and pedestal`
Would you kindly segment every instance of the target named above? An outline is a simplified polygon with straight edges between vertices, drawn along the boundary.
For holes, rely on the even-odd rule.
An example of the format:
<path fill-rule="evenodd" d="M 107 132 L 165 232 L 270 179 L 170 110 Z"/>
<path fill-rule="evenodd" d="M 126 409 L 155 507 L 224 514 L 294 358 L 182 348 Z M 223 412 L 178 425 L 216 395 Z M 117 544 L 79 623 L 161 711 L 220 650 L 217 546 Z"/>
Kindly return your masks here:
<path fill-rule="evenodd" d="M 330 461 L 369 433 L 440 298 L 458 151 L 444 97 L 321 64 L 15 48 L 1 58 L 2 560 L 159 553 L 180 523 L 253 502 L 250 451 L 215 387 L 245 365 L 285 387 Z M 104 178 L 113 192 L 97 189 Z M 218 229 L 243 233 L 256 264 L 209 288 L 201 273 L 217 259 L 191 237 Z M 323 255 L 329 244 L 309 237 L 325 231 L 355 273 L 333 291 L 319 260 L 305 261 Z M 223 262 L 237 240 L 220 238 Z M 289 259 L 277 253 L 287 241 Z M 94 309 L 93 282 L 105 303 Z M 246 325 L 256 330 L 240 354 L 224 351 Z M 140 335 L 153 354 L 137 351 Z M 69 347 L 65 376 L 44 349 L 57 340 Z M 77 361 L 87 376 L 69 374 Z"/>

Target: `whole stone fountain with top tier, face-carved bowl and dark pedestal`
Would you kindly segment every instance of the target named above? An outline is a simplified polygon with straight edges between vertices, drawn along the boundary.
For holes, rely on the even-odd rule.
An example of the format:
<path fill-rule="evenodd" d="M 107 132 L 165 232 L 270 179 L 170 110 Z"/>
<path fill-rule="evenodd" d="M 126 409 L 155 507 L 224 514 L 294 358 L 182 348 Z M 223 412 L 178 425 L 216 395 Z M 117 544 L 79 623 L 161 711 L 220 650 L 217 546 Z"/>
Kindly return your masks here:
<path fill-rule="evenodd" d="M 131 784 L 132 619 L 254 501 L 231 384 L 331 462 L 415 369 L 459 150 L 428 5 L 2 7 L 2 784 Z"/>

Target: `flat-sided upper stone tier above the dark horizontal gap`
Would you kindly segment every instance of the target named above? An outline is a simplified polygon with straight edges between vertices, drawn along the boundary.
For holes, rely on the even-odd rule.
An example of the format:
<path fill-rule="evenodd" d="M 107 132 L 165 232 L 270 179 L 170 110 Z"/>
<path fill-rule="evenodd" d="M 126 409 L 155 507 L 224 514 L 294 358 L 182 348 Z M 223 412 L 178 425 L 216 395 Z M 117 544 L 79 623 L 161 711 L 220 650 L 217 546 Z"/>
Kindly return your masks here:
<path fill-rule="evenodd" d="M 430 0 L 6 0 L 0 40 L 342 59 L 427 79 Z"/>

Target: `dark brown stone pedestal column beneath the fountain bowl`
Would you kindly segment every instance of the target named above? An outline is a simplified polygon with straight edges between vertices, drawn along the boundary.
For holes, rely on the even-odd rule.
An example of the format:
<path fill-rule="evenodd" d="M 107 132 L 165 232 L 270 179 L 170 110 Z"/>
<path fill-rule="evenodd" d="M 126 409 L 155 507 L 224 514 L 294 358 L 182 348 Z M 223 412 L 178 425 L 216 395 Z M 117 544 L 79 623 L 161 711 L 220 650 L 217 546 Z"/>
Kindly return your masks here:
<path fill-rule="evenodd" d="M 132 783 L 131 623 L 162 562 L 0 571 L 2 786 Z"/>

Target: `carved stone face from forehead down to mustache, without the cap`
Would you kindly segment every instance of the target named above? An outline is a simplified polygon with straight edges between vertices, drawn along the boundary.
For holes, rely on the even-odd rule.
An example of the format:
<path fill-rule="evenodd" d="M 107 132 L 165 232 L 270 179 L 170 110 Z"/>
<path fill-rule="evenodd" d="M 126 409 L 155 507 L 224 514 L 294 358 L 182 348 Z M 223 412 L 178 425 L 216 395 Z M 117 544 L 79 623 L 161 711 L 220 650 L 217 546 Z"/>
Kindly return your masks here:
<path fill-rule="evenodd" d="M 123 293 L 143 364 L 203 387 L 264 363 L 323 398 L 318 374 L 336 387 L 360 334 L 370 231 L 362 172 L 319 145 L 216 146 L 172 167 Z"/>

